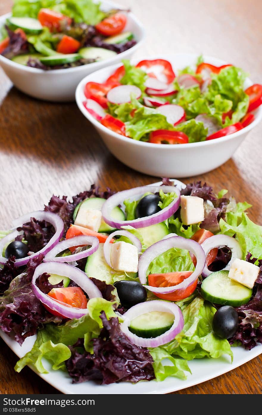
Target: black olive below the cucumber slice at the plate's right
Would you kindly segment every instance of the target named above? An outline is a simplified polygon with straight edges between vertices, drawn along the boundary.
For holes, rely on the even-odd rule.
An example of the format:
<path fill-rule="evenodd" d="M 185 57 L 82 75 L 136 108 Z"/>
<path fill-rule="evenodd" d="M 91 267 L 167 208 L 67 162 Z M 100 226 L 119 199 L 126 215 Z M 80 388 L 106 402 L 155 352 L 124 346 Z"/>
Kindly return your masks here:
<path fill-rule="evenodd" d="M 224 305 L 214 314 L 214 333 L 221 339 L 229 339 L 238 330 L 238 313 L 231 305 Z"/>

